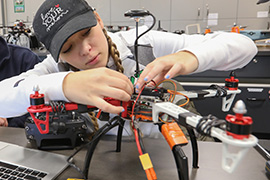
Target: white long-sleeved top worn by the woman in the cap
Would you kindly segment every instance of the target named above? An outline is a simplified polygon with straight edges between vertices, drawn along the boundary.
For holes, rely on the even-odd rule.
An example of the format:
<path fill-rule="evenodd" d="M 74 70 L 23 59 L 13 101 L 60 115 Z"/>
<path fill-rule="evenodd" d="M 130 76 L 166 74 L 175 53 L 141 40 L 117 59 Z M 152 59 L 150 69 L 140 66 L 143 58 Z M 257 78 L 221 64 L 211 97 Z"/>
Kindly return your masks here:
<path fill-rule="evenodd" d="M 145 26 L 139 28 L 142 33 Z M 108 33 L 117 45 L 125 74 L 131 76 L 135 71 L 135 61 L 128 46 L 134 45 L 135 30 Z M 207 35 L 178 35 L 173 33 L 150 31 L 139 40 L 139 44 L 150 44 L 155 57 L 178 51 L 190 51 L 199 61 L 194 72 L 205 70 L 233 70 L 242 68 L 256 55 L 257 48 L 253 41 L 241 34 L 216 32 Z M 109 68 L 114 69 L 112 58 Z M 0 82 L 0 117 L 14 117 L 25 114 L 30 105 L 30 94 L 38 85 L 40 93 L 45 94 L 45 101 L 68 101 L 62 90 L 62 83 L 69 73 L 60 72 L 51 55 L 37 64 L 33 70 Z"/>

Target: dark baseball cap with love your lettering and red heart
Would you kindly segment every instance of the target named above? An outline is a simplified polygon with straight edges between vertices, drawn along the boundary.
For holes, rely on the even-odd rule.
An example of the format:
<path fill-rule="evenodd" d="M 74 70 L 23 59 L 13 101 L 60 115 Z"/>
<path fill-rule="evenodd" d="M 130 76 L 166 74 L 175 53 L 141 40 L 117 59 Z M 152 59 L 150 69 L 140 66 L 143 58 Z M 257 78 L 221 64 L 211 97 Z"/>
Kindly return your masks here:
<path fill-rule="evenodd" d="M 93 11 L 85 0 L 45 0 L 40 6 L 33 21 L 34 32 L 56 62 L 70 36 L 96 26 Z"/>

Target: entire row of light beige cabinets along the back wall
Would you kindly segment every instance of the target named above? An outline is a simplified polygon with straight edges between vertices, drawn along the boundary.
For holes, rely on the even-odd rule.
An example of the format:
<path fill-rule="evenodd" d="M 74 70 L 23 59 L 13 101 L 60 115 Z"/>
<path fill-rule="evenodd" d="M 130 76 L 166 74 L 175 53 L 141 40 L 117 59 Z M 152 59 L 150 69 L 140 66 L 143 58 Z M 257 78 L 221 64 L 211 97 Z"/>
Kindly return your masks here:
<path fill-rule="evenodd" d="M 44 0 L 25 0 L 25 12 L 15 13 L 14 2 L 7 3 L 7 24 L 13 25 L 17 19 L 31 25 L 34 14 Z M 189 24 L 200 24 L 201 32 L 209 25 L 208 15 L 218 14 L 217 25 L 209 26 L 213 31 L 229 31 L 236 22 L 249 30 L 267 29 L 269 17 L 257 17 L 258 12 L 268 12 L 270 2 L 257 5 L 258 0 L 86 0 L 97 9 L 105 25 L 135 26 L 134 21 L 124 17 L 130 9 L 147 9 L 163 29 L 170 32 L 185 30 Z M 2 25 L 0 13 L 0 26 Z M 158 24 L 154 27 L 157 29 Z"/>

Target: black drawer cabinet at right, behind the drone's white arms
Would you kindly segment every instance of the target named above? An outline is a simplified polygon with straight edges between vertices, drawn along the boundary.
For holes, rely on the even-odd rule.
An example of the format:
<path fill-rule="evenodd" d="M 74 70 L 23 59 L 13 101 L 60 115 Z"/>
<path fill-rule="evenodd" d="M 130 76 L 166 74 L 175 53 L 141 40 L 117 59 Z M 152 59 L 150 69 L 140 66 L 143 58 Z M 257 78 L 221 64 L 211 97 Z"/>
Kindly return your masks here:
<path fill-rule="evenodd" d="M 259 49 L 258 54 L 244 68 L 235 70 L 239 79 L 238 94 L 234 103 L 241 99 L 244 101 L 247 114 L 253 119 L 252 133 L 258 138 L 270 139 L 270 50 Z M 176 79 L 181 82 L 186 90 L 198 90 L 208 88 L 211 84 L 224 86 L 225 78 L 230 72 L 206 71 L 190 76 L 179 76 Z M 221 98 L 208 98 L 194 100 L 195 106 L 201 115 L 212 114 L 224 119 L 227 114 L 221 111 Z M 234 104 L 233 103 L 233 104 Z"/>

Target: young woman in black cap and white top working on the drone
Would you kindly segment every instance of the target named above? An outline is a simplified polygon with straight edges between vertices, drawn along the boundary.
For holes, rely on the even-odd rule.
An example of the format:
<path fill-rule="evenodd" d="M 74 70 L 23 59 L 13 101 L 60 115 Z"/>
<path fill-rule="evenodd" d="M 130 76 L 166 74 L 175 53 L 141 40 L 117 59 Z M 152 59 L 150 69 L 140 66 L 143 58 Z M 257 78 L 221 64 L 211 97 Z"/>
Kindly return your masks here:
<path fill-rule="evenodd" d="M 103 98 L 121 101 L 131 98 L 133 84 L 129 77 L 136 67 L 130 47 L 134 44 L 135 30 L 106 32 L 98 13 L 84 0 L 44 1 L 33 27 L 51 55 L 33 70 L 0 82 L 4 89 L 0 95 L 0 116 L 26 113 L 29 95 L 36 85 L 46 101 L 94 105 L 109 113 L 123 111 L 123 107 L 113 106 Z M 139 33 L 144 30 L 145 27 L 140 28 Z M 153 30 L 142 36 L 139 43 L 152 48 L 147 49 L 151 56 L 144 59 L 148 65 L 135 85 L 137 90 L 152 79 L 159 82 L 209 69 L 241 68 L 257 53 L 251 39 L 226 32 L 178 35 Z M 2 98 L 5 96 L 9 98 Z"/>

